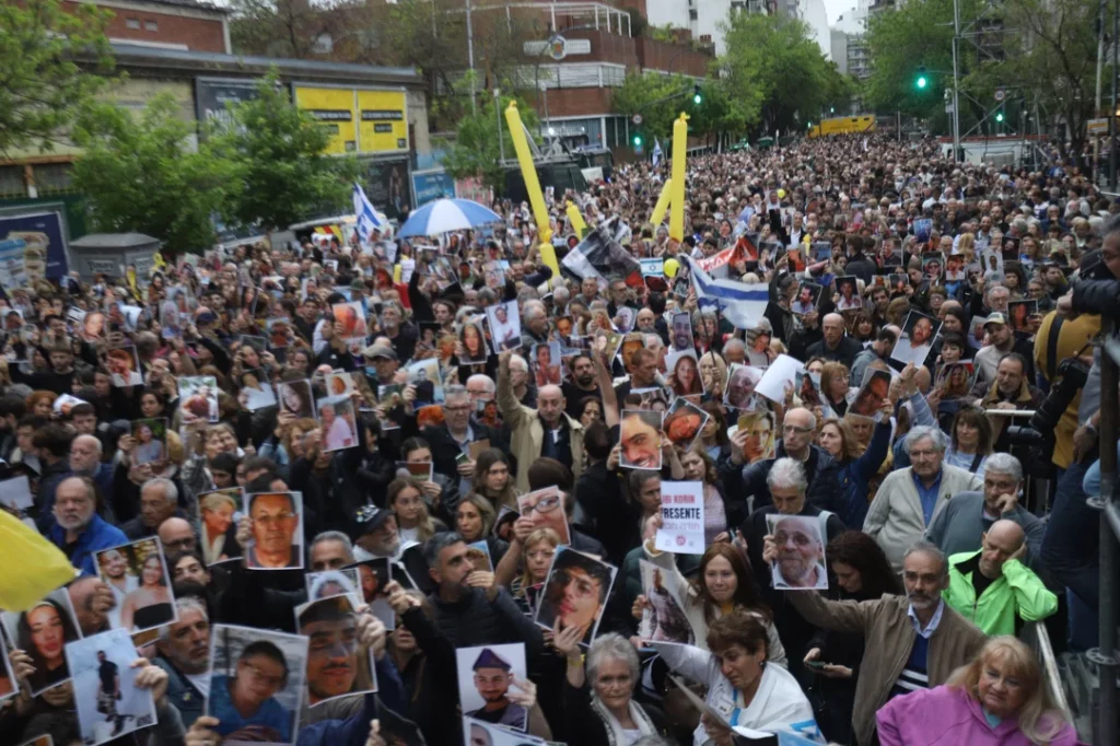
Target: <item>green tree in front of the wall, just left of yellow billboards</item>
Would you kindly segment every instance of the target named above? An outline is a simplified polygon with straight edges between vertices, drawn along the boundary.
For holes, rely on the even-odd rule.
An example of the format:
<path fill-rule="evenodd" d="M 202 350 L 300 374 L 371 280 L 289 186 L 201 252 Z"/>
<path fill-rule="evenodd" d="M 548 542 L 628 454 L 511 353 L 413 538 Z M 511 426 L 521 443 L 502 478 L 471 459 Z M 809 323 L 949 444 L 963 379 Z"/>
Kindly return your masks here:
<path fill-rule="evenodd" d="M 324 152 L 329 132 L 278 83 L 273 71 L 258 83 L 255 99 L 233 106 L 232 125 L 213 130 L 209 138 L 239 179 L 233 217 L 267 231 L 347 206 L 358 174 L 354 158 Z"/>

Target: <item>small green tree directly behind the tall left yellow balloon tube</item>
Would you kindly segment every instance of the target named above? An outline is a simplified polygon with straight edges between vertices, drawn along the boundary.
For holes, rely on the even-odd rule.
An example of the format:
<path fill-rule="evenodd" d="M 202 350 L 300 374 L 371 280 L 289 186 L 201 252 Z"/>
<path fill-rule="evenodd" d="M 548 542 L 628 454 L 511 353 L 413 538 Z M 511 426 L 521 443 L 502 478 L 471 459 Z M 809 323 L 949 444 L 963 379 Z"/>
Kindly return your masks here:
<path fill-rule="evenodd" d="M 469 73 L 468 73 L 469 75 Z M 530 133 L 536 131 L 539 120 L 536 112 L 524 100 L 503 94 L 498 101 L 500 109 L 495 111 L 493 96 L 479 103 L 477 113 L 467 113 L 459 120 L 456 128 L 455 142 L 441 142 L 445 148 L 444 168 L 454 178 L 482 178 L 483 184 L 501 194 L 505 184 L 505 168 L 502 166 L 502 148 L 504 142 L 505 157 L 515 158 L 513 139 L 505 121 L 505 110 L 511 101 L 517 102 L 521 121 Z M 502 118 L 502 138 L 498 139 L 497 118 Z"/>

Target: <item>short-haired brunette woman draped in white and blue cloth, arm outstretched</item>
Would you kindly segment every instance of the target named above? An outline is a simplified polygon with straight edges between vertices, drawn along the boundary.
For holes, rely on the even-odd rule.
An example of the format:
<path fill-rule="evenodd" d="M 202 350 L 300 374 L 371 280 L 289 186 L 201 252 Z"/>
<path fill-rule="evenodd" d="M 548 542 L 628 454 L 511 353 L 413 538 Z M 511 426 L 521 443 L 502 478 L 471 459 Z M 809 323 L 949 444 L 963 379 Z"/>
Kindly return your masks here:
<path fill-rule="evenodd" d="M 710 653 L 692 645 L 650 644 L 669 668 L 708 688 L 704 702 L 719 717 L 704 714 L 693 731 L 694 746 L 732 746 L 740 728 L 790 731 L 824 743 L 797 680 L 766 662 L 766 628 L 755 615 L 732 610 L 712 622 Z"/>

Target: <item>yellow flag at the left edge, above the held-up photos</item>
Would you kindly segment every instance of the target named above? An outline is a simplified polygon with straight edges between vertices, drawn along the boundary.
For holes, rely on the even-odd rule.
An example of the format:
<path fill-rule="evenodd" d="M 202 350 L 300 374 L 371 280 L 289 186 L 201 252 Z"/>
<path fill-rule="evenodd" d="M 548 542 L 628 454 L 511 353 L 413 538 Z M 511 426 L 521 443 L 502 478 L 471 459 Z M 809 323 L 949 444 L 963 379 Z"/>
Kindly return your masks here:
<path fill-rule="evenodd" d="M 0 511 L 0 608 L 26 612 L 52 590 L 69 582 L 76 570 L 62 550 L 38 531 Z"/>

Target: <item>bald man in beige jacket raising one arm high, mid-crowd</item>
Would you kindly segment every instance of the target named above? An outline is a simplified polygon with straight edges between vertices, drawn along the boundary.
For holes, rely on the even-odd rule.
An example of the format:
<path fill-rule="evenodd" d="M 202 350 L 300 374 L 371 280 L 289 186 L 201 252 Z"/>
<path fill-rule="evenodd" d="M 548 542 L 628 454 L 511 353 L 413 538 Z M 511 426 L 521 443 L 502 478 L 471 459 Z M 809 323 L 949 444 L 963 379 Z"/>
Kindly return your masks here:
<path fill-rule="evenodd" d="M 517 402 L 510 380 L 512 352 L 498 355 L 497 407 L 510 427 L 510 450 L 517 459 L 517 492 L 529 492 L 529 467 L 538 458 L 554 458 L 578 479 L 584 470 L 584 426 L 564 413 L 560 386 L 541 386 L 536 409 Z"/>

